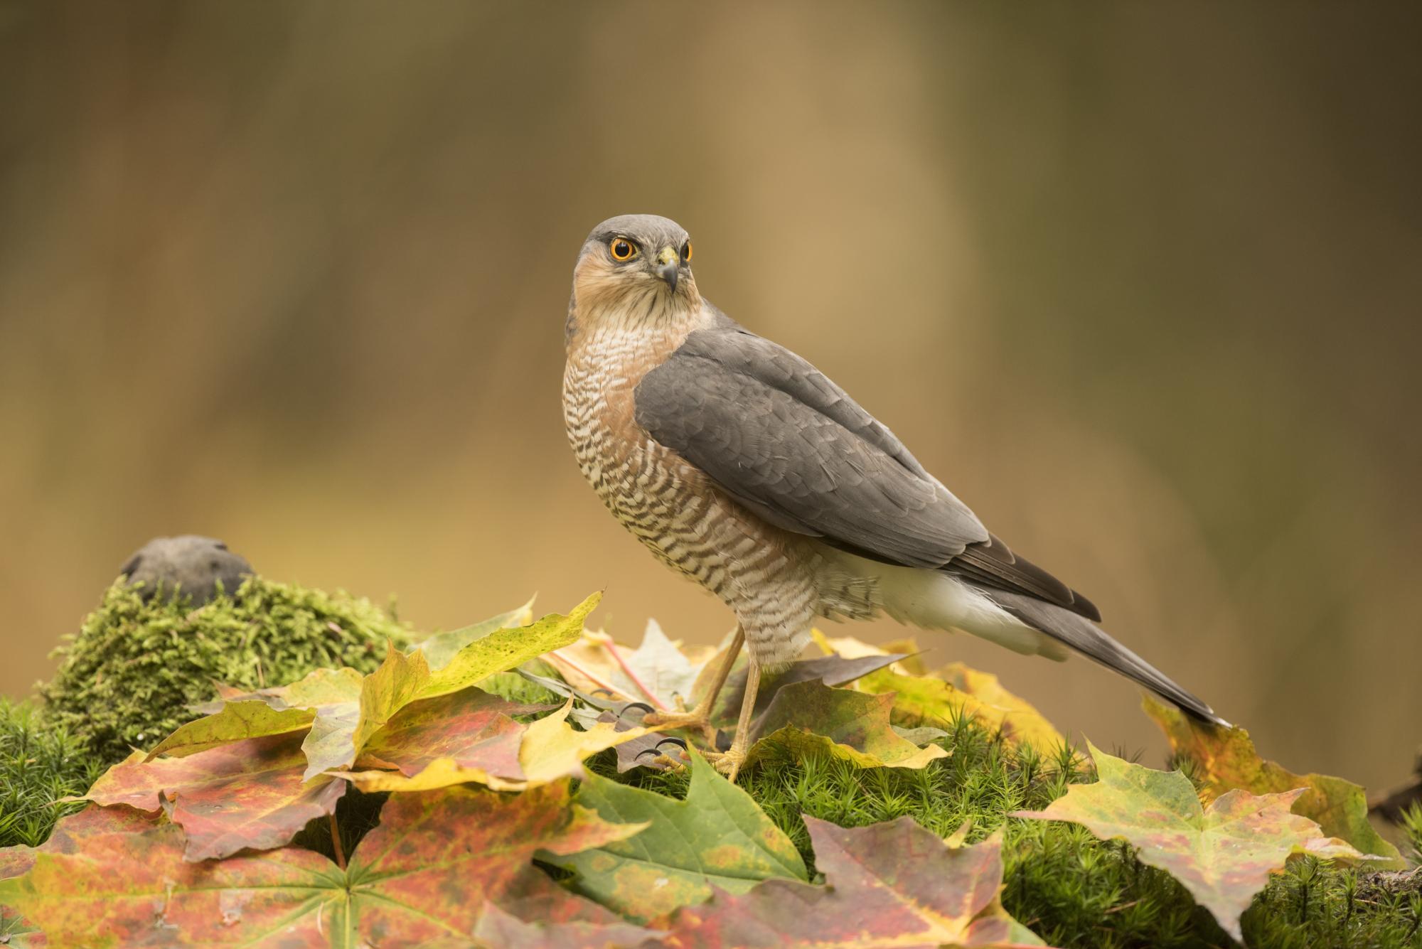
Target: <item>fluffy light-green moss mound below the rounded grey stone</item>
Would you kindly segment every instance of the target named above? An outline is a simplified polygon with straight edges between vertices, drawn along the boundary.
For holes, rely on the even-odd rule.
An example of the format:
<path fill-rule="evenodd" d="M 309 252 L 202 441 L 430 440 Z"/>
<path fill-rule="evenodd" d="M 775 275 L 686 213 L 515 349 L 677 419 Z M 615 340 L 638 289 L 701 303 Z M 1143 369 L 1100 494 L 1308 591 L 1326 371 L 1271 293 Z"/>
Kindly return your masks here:
<path fill-rule="evenodd" d="M 193 719 L 188 706 L 212 699 L 213 682 L 257 689 L 321 666 L 373 672 L 387 639 L 412 638 L 408 624 L 343 591 L 252 577 L 193 609 L 115 582 L 55 649 L 60 669 L 38 693 L 46 720 L 112 764 Z"/>

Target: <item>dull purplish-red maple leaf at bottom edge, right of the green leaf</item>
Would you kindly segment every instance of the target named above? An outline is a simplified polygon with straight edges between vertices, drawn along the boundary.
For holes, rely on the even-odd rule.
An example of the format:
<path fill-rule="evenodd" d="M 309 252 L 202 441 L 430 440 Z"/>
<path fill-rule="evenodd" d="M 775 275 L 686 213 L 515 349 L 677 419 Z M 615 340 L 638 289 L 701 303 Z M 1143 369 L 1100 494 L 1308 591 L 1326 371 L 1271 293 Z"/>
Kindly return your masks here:
<path fill-rule="evenodd" d="M 1039 946 L 998 902 L 1003 837 L 948 847 L 910 817 L 842 828 L 805 817 L 823 886 L 772 879 L 671 919 L 668 946 Z"/>

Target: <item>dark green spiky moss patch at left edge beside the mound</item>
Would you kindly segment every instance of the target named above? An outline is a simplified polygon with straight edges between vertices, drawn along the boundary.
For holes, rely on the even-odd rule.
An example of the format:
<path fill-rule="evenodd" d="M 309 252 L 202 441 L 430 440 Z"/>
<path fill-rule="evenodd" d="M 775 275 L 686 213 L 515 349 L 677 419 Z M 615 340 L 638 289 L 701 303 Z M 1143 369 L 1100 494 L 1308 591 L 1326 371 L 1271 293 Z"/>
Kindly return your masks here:
<path fill-rule="evenodd" d="M 82 794 L 102 773 L 82 742 L 41 720 L 28 702 L 0 699 L 0 847 L 43 844 L 54 823 L 82 804 L 55 804 Z"/>

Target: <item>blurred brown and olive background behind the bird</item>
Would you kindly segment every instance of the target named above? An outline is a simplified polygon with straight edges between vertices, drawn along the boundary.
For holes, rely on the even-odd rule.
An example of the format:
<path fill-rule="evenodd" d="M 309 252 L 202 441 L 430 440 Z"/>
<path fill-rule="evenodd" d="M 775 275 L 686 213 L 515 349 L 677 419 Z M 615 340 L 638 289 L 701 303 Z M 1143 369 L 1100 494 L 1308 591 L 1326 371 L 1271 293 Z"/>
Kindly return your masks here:
<path fill-rule="evenodd" d="M 425 628 L 720 636 L 562 430 L 573 257 L 656 212 L 1266 754 L 1395 781 L 1416 10 L 0 3 L 0 690 L 185 531 Z M 1159 763 L 1091 663 L 923 642 Z"/>

